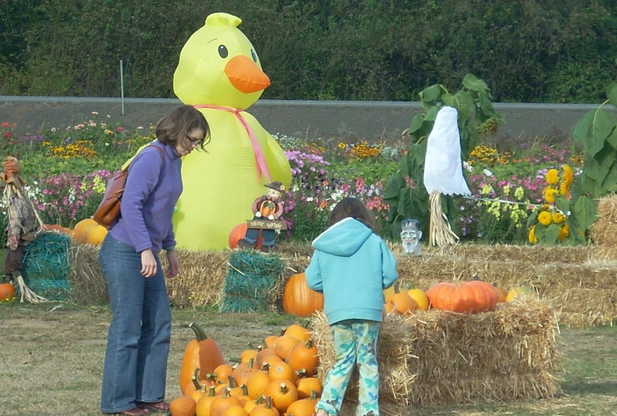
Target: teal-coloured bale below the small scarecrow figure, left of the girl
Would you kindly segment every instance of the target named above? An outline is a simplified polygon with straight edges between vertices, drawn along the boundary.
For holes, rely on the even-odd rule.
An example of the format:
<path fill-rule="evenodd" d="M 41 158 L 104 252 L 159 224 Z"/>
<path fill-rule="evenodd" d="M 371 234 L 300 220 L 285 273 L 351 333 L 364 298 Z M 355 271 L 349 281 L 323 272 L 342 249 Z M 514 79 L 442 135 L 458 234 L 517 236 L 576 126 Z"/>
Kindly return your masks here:
<path fill-rule="evenodd" d="M 283 284 L 284 264 L 277 255 L 234 251 L 223 284 L 222 312 L 257 312 L 274 308 Z"/>

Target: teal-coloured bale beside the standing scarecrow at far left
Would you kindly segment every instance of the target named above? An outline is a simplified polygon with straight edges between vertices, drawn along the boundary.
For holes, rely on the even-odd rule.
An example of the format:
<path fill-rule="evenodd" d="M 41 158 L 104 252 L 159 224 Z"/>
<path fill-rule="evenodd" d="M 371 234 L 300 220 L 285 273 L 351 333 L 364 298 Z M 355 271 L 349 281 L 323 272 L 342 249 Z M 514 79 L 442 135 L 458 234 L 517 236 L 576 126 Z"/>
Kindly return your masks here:
<path fill-rule="evenodd" d="M 71 291 L 68 283 L 67 235 L 41 234 L 24 251 L 24 282 L 37 295 L 52 301 L 66 301 Z"/>

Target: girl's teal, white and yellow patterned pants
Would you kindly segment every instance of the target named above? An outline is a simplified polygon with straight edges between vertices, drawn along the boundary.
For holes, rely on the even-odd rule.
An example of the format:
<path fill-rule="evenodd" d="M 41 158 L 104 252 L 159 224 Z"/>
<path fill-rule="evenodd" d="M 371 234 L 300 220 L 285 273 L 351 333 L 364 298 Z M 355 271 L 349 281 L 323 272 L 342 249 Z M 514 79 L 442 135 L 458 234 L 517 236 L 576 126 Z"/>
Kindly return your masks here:
<path fill-rule="evenodd" d="M 379 324 L 373 320 L 349 319 L 331 325 L 336 363 L 328 372 L 315 409 L 338 415 L 355 364 L 360 374 L 358 416 L 379 415 L 379 369 L 377 340 Z"/>

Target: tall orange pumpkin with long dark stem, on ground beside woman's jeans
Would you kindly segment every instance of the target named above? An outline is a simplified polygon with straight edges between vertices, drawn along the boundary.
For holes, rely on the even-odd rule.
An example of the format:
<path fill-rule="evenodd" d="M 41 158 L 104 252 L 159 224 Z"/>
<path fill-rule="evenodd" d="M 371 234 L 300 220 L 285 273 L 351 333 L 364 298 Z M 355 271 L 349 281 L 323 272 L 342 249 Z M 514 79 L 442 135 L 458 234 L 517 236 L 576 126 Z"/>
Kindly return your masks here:
<path fill-rule="evenodd" d="M 189 328 L 195 333 L 195 339 L 186 345 L 182 357 L 180 366 L 180 390 L 182 394 L 191 381 L 195 369 L 199 368 L 200 380 L 205 380 L 208 378 L 208 373 L 212 373 L 219 365 L 225 364 L 225 358 L 217 341 L 205 336 L 204 330 L 196 322 L 191 322 Z"/>

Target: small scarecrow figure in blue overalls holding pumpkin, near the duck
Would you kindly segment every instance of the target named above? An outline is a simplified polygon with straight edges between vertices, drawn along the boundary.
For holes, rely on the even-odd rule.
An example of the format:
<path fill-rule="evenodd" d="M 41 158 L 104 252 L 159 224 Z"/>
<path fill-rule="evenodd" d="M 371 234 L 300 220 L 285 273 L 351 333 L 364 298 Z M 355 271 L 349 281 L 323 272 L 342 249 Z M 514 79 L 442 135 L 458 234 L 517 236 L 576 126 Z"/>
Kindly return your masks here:
<path fill-rule="evenodd" d="M 253 219 L 276 221 L 283 214 L 281 194 L 285 192 L 285 186 L 279 181 L 274 181 L 264 186 L 268 188 L 268 192 L 254 200 L 252 205 Z M 268 252 L 274 247 L 275 237 L 274 229 L 255 229 L 249 227 L 246 230 L 244 239 L 239 240 L 238 247 L 253 247 Z"/>

